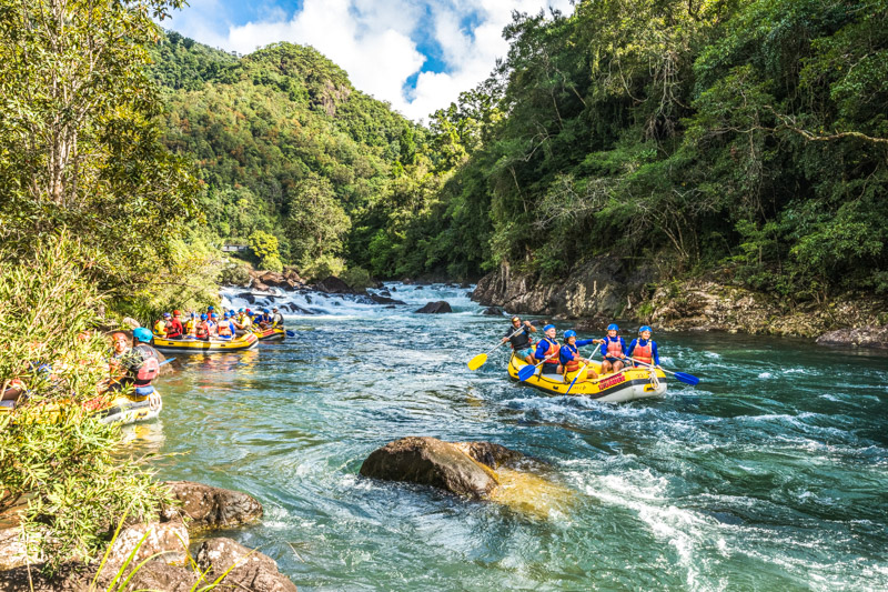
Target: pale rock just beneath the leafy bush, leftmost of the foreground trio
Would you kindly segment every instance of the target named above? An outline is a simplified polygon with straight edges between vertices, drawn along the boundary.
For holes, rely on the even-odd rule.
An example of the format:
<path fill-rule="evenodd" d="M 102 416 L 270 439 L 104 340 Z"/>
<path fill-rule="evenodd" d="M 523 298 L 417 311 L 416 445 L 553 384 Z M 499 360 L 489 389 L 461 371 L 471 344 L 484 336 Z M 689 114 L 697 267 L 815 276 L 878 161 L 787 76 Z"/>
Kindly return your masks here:
<path fill-rule="evenodd" d="M 139 549 L 131 561 L 133 565 L 152 556 L 164 563 L 184 564 L 188 544 L 188 529 L 181 521 L 148 522 L 125 526 L 118 534 L 108 554 L 107 569 L 117 571 L 137 546 Z"/>

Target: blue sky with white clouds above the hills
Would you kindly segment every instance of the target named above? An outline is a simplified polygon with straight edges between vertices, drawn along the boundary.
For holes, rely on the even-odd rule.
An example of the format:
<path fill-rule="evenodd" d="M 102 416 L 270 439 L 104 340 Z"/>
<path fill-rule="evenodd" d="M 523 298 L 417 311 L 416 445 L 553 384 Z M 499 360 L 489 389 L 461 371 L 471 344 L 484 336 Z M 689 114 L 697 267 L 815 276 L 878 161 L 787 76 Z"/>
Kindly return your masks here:
<path fill-rule="evenodd" d="M 484 80 L 512 12 L 571 12 L 571 0 L 191 0 L 162 24 L 239 53 L 275 41 L 315 47 L 352 83 L 420 120 Z"/>

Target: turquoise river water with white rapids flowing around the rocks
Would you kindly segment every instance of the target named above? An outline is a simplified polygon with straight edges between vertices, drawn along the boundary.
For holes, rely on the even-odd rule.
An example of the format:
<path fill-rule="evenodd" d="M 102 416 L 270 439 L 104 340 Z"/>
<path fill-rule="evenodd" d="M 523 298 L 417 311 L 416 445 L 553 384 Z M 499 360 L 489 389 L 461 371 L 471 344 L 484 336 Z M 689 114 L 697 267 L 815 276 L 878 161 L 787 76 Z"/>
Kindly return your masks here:
<path fill-rule="evenodd" d="M 262 522 L 225 534 L 301 590 L 888 589 L 885 355 L 662 333 L 664 367 L 698 387 L 547 398 L 507 380 L 505 349 L 466 368 L 504 318 L 397 288 L 411 305 L 297 297 L 327 313 L 289 318 L 284 343 L 183 358 L 161 418 L 130 429 L 165 454 L 160 478 L 256 496 Z M 454 314 L 411 313 L 441 299 Z M 404 435 L 536 456 L 573 503 L 539 518 L 357 476 Z"/>

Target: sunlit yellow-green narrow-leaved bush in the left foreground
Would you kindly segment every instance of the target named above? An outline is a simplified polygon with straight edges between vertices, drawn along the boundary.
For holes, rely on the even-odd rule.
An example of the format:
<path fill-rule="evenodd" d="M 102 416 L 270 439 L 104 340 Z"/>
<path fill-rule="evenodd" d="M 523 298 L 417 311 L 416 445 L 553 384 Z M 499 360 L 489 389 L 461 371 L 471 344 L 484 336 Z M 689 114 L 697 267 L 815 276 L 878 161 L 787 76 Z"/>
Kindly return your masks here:
<path fill-rule="evenodd" d="M 108 343 L 88 332 L 102 304 L 82 271 L 93 259 L 69 235 L 0 251 L 0 377 L 29 393 L 0 413 L 0 511 L 27 500 L 24 532 L 50 569 L 93 559 L 124 513 L 149 519 L 167 495 L 125 454 L 120 428 L 82 405 L 108 375 Z"/>

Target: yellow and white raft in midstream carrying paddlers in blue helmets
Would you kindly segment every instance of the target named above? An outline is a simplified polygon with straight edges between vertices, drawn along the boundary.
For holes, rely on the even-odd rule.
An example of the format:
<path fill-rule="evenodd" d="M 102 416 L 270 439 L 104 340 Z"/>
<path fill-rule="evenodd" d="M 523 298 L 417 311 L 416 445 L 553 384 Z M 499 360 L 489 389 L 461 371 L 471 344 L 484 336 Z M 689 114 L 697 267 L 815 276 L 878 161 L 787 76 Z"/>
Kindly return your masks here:
<path fill-rule="evenodd" d="M 527 363 L 524 360 L 516 358 L 513 353 L 508 360 L 508 375 L 513 380 L 518 380 L 518 372 L 526 365 Z M 595 372 L 601 373 L 602 371 L 602 364 L 598 362 L 593 362 L 589 367 Z M 552 394 L 564 394 L 571 384 L 571 380 L 565 382 L 564 377 L 561 374 L 541 374 L 537 369 L 533 377 L 524 381 L 524 384 Z M 607 374 L 586 382 L 577 380 L 569 394 L 588 397 L 589 399 L 610 403 L 624 403 L 635 399 L 660 397 L 666 392 L 666 374 L 663 370 L 630 368 L 616 374 Z"/>

